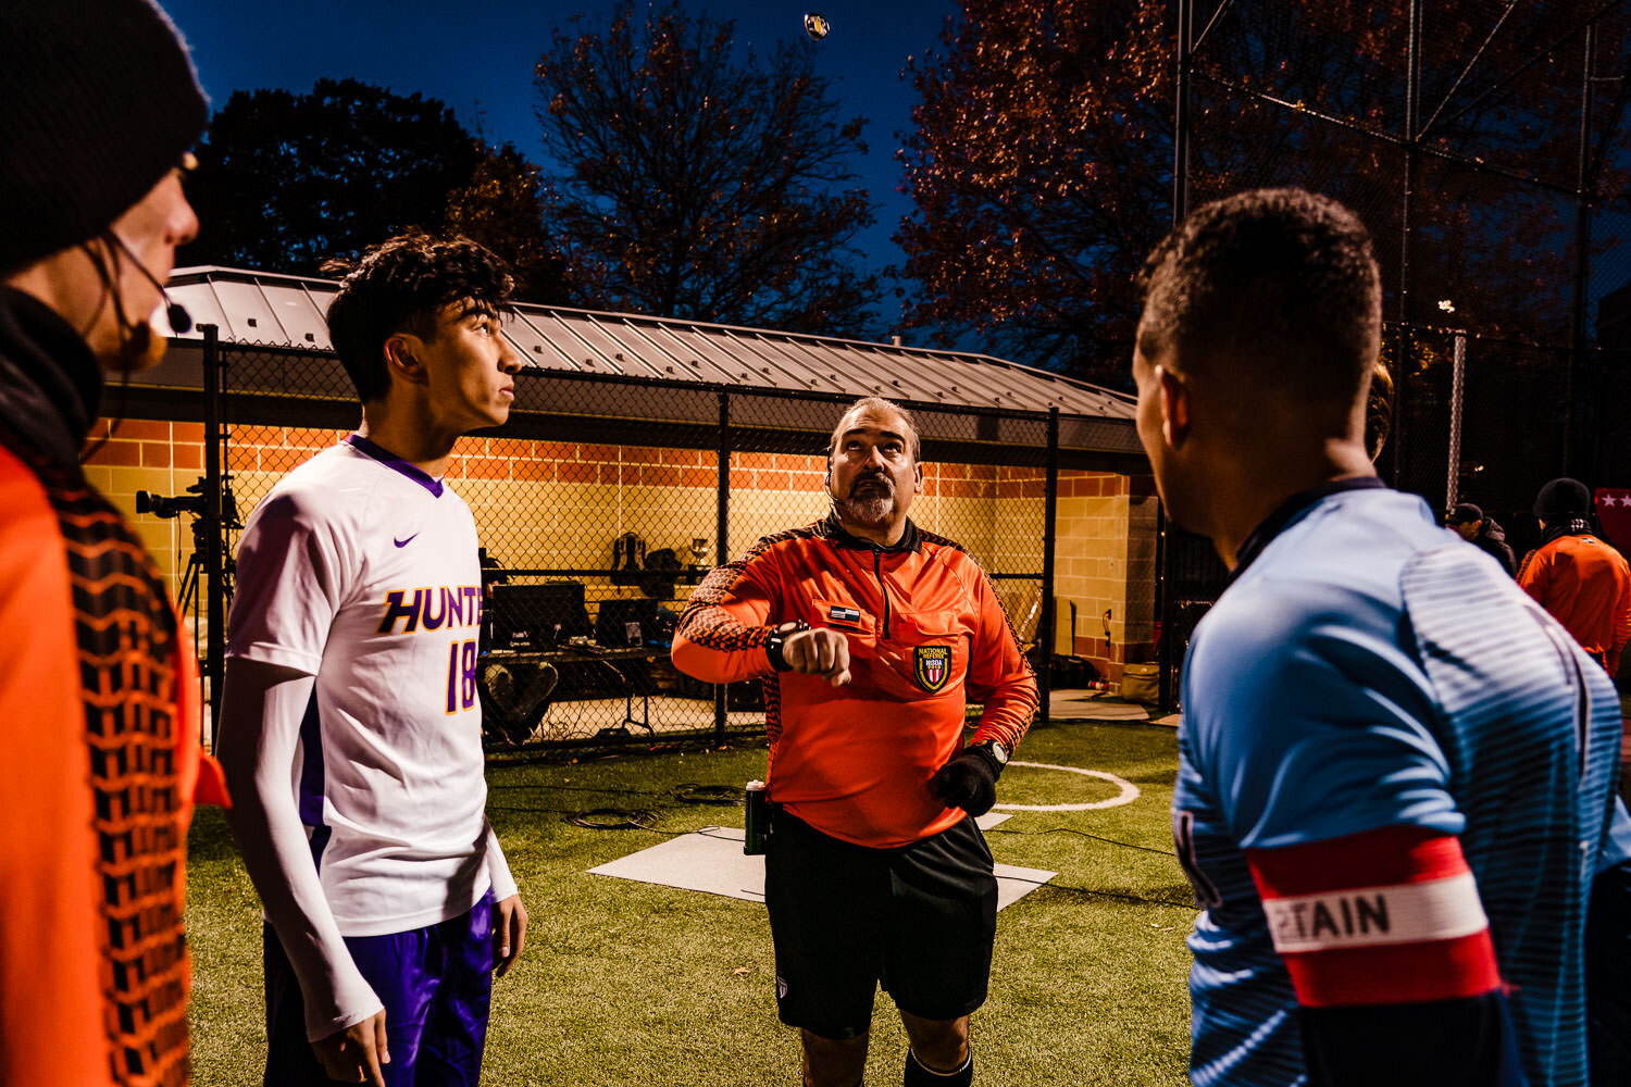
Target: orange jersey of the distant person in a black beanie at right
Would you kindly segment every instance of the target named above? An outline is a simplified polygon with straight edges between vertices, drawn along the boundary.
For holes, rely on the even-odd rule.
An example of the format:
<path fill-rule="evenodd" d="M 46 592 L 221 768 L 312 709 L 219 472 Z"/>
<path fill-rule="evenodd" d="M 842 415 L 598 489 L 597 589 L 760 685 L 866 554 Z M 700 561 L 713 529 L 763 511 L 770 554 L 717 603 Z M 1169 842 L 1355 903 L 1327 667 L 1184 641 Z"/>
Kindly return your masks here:
<path fill-rule="evenodd" d="M 1631 567 L 1597 536 L 1559 536 L 1518 570 L 1518 585 L 1597 654 L 1608 675 L 1620 673 L 1620 652 L 1631 639 Z"/>

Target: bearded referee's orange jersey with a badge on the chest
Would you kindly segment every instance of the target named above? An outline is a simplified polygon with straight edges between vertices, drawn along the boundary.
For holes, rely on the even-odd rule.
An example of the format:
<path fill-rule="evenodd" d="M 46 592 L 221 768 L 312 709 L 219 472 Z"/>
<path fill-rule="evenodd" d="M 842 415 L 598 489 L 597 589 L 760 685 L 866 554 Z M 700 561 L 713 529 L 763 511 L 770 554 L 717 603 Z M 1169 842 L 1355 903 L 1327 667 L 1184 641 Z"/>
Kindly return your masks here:
<path fill-rule="evenodd" d="M 846 686 L 776 671 L 765 642 L 802 619 L 843 631 Z M 879 548 L 833 518 L 765 536 L 692 593 L 674 663 L 708 683 L 765 681 L 770 799 L 822 833 L 904 846 L 956 825 L 928 779 L 962 742 L 1010 750 L 1036 714 L 1036 676 L 974 557 L 910 521 Z"/>

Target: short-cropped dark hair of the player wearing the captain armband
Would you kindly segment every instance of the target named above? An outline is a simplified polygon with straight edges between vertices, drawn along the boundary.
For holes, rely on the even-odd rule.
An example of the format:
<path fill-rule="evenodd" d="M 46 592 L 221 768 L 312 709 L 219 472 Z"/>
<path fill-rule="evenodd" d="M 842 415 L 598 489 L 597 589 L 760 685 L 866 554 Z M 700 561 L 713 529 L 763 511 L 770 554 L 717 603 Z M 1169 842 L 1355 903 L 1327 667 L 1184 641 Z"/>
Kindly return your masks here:
<path fill-rule="evenodd" d="M 1196 209 L 1138 275 L 1138 350 L 1251 393 L 1346 409 L 1377 362 L 1381 275 L 1349 209 L 1303 189 L 1254 189 Z M 1227 362 L 1210 375 L 1209 360 Z"/>

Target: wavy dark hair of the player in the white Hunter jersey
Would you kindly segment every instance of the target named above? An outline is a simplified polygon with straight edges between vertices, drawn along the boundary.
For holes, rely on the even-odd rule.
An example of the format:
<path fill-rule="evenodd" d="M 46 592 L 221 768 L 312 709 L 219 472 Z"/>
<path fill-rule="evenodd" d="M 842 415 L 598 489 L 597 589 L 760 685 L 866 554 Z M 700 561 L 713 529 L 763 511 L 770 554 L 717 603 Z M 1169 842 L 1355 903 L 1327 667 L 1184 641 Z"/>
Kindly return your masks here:
<path fill-rule="evenodd" d="M 390 391 L 385 341 L 398 332 L 435 337 L 437 313 L 468 301 L 507 313 L 515 280 L 509 267 L 470 238 L 408 231 L 365 251 L 334 259 L 323 272 L 344 275 L 328 306 L 328 337 L 362 403 Z"/>

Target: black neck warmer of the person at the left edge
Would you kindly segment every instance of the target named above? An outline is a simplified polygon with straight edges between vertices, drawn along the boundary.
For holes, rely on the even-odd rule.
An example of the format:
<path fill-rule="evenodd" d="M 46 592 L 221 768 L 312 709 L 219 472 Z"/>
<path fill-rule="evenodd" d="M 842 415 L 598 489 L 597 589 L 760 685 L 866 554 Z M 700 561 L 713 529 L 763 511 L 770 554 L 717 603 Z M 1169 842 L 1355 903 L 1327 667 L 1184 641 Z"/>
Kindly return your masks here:
<path fill-rule="evenodd" d="M 72 324 L 33 295 L 0 287 L 0 424 L 20 455 L 67 469 L 101 404 L 103 370 Z"/>

